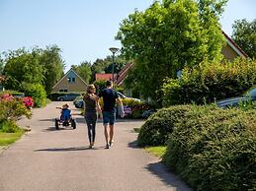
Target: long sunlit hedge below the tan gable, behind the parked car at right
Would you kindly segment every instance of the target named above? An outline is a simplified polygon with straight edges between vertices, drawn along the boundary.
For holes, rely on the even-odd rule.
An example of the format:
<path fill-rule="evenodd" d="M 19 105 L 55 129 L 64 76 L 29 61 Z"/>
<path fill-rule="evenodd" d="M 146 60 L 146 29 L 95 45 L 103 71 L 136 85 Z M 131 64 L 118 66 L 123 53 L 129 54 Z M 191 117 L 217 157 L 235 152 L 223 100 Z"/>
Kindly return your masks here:
<path fill-rule="evenodd" d="M 256 61 L 236 60 L 233 63 L 202 63 L 185 68 L 179 80 L 163 85 L 163 104 L 213 102 L 229 96 L 241 96 L 256 84 Z"/>

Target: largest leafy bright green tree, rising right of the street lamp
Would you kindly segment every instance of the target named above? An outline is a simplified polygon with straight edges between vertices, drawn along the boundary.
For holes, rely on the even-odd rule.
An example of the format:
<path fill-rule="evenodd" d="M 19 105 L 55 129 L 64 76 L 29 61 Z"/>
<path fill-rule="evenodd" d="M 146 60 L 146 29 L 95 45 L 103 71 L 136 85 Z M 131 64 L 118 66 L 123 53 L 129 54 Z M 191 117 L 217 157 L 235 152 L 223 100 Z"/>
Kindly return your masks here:
<path fill-rule="evenodd" d="M 121 24 L 117 39 L 136 62 L 128 88 L 158 101 L 165 78 L 175 78 L 185 65 L 220 60 L 223 36 L 218 24 L 225 1 L 155 1 Z"/>

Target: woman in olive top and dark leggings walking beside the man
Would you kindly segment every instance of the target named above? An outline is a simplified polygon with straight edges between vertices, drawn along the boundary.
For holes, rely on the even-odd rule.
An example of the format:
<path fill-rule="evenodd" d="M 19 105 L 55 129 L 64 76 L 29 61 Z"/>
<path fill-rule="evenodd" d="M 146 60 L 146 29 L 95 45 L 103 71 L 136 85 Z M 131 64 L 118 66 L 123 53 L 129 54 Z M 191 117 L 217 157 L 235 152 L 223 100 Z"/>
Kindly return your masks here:
<path fill-rule="evenodd" d="M 95 87 L 94 85 L 88 85 L 87 87 L 87 93 L 83 97 L 84 100 L 84 117 L 85 121 L 88 127 L 88 137 L 90 146 L 89 148 L 92 148 L 94 146 L 95 142 L 95 127 L 97 122 L 97 115 L 98 112 L 101 114 L 101 106 L 99 104 L 99 100 L 96 99 L 95 95 Z"/>

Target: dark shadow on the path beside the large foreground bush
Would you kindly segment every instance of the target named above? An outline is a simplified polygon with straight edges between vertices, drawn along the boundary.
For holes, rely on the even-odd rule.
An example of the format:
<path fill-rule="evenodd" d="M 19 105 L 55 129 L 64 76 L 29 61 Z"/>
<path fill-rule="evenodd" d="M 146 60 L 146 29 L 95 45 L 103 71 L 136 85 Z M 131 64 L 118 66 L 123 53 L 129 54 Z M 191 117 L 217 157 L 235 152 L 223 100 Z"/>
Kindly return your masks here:
<path fill-rule="evenodd" d="M 174 186 L 179 191 L 192 191 L 192 189 L 183 183 L 178 176 L 176 176 L 172 171 L 168 170 L 161 161 L 149 163 L 145 169 L 157 176 L 166 185 L 170 185 L 172 187 Z"/>

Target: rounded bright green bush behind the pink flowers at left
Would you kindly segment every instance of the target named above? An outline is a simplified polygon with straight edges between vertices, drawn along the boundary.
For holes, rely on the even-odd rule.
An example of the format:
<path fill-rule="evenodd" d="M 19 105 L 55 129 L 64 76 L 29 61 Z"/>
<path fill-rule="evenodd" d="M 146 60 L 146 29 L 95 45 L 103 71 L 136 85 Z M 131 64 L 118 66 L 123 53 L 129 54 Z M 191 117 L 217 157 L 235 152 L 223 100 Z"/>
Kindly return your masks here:
<path fill-rule="evenodd" d="M 26 96 L 32 96 L 35 106 L 42 107 L 46 104 L 46 92 L 41 84 L 22 84 L 22 90 Z"/>

